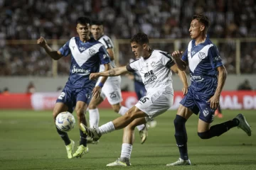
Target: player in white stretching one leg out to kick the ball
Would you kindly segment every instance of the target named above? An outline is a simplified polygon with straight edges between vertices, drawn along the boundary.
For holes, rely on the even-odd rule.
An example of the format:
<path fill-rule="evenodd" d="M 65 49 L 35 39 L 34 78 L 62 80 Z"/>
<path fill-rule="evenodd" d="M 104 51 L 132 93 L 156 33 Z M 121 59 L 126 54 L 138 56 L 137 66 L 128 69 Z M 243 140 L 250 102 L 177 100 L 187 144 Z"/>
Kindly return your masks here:
<path fill-rule="evenodd" d="M 146 96 L 121 117 L 100 126 L 87 128 L 80 124 L 80 128 L 93 140 L 98 140 L 103 134 L 124 128 L 122 152 L 116 162 L 107 166 L 129 166 L 134 142 L 134 128 L 142 125 L 151 118 L 166 112 L 174 103 L 171 70 L 178 73 L 183 82 L 183 93 L 186 94 L 188 82 L 185 72 L 178 69 L 168 52 L 153 50 L 149 47 L 149 39 L 144 33 L 137 33 L 131 40 L 132 52 L 140 56 L 138 60 L 124 67 L 110 69 L 108 72 L 92 73 L 90 79 L 97 77 L 114 77 L 127 72 L 138 71 L 146 88 Z"/>

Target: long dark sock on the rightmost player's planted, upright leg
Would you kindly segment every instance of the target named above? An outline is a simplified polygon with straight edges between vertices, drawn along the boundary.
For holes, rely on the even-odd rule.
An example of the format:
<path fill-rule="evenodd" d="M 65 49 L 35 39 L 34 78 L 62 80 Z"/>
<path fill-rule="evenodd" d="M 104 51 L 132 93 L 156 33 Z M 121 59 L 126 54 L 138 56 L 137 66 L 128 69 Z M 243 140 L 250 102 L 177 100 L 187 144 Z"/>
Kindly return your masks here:
<path fill-rule="evenodd" d="M 180 115 L 176 115 L 174 119 L 174 126 L 175 126 L 175 139 L 178 150 L 181 155 L 181 159 L 188 160 L 188 137 L 186 134 L 186 118 L 181 117 Z"/>

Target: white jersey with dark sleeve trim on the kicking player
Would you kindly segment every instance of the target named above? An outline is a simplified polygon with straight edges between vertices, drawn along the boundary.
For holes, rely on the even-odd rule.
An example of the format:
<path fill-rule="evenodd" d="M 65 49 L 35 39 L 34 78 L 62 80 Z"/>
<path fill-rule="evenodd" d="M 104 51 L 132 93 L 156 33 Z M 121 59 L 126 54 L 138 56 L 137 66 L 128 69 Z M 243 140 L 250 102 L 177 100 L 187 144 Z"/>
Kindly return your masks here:
<path fill-rule="evenodd" d="M 139 72 L 147 94 L 166 87 L 171 88 L 172 94 L 174 94 L 170 69 L 174 64 L 174 59 L 168 52 L 153 50 L 148 59 L 144 60 L 143 57 L 139 57 L 138 60 L 129 63 L 127 70 L 129 72 Z"/>

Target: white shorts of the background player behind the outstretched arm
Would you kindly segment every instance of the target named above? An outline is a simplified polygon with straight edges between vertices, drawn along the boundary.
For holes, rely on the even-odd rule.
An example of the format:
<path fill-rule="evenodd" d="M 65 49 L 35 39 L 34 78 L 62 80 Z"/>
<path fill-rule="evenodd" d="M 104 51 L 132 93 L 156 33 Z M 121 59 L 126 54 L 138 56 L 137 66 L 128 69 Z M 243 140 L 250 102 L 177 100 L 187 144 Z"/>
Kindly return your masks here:
<path fill-rule="evenodd" d="M 99 82 L 97 82 L 97 84 L 98 83 Z M 112 79 L 111 81 L 107 79 L 102 87 L 100 96 L 103 100 L 107 97 L 107 101 L 111 105 L 121 103 L 123 101 L 121 94 L 121 79 Z"/>

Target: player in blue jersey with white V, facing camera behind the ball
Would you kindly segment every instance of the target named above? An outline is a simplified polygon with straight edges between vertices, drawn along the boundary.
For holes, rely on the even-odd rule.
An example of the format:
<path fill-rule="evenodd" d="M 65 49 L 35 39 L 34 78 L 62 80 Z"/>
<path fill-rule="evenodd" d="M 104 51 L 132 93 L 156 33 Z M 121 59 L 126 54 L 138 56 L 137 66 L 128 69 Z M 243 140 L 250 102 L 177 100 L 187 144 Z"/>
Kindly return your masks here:
<path fill-rule="evenodd" d="M 104 45 L 94 38 L 90 38 L 90 18 L 80 17 L 76 21 L 76 29 L 79 37 L 73 37 L 60 48 L 60 50 L 52 50 L 41 37 L 37 40 L 38 45 L 50 55 L 53 60 L 59 60 L 61 57 L 71 55 L 70 76 L 65 88 L 58 97 L 54 109 L 53 119 L 61 112 L 75 112 L 78 116 L 78 122 L 84 123 L 85 111 L 90 102 L 91 96 L 100 97 L 102 86 L 95 86 L 95 81 L 89 79 L 91 72 L 99 72 L 100 63 L 105 65 L 105 70 L 110 68 L 110 57 Z M 101 79 L 100 84 L 104 84 L 107 77 Z M 73 154 L 75 142 L 70 140 L 68 133 L 58 130 L 57 132 L 65 142 L 68 153 L 68 159 L 73 157 L 82 157 L 88 152 L 87 135 L 80 130 L 80 145 Z"/>

